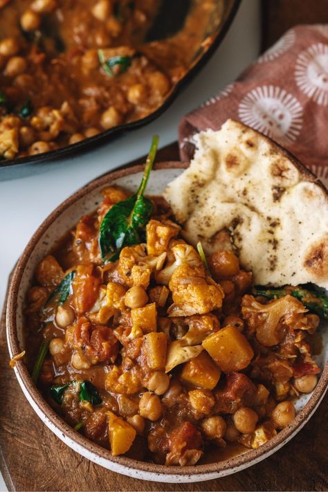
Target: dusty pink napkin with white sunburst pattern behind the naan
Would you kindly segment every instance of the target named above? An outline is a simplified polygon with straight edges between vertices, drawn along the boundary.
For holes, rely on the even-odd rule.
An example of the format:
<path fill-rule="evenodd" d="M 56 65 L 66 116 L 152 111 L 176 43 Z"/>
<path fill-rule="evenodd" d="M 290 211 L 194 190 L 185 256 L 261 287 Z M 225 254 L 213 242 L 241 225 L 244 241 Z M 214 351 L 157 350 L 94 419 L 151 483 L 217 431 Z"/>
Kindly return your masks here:
<path fill-rule="evenodd" d="M 218 95 L 183 118 L 181 158 L 193 136 L 227 118 L 270 136 L 328 185 L 328 24 L 296 26 Z"/>

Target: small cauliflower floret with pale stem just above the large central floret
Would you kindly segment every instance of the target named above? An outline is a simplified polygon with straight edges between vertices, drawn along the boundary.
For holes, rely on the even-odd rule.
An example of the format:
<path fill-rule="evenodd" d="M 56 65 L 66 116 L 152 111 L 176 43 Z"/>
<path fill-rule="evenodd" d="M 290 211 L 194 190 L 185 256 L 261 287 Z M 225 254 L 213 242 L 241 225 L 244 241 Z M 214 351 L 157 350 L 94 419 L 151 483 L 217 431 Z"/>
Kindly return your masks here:
<path fill-rule="evenodd" d="M 190 244 L 187 244 L 184 241 L 172 241 L 170 244 L 168 264 L 163 270 L 156 273 L 156 282 L 158 284 L 168 285 L 176 267 L 184 263 L 188 263 L 192 266 L 203 266 L 201 257 L 193 246 L 190 246 Z"/>

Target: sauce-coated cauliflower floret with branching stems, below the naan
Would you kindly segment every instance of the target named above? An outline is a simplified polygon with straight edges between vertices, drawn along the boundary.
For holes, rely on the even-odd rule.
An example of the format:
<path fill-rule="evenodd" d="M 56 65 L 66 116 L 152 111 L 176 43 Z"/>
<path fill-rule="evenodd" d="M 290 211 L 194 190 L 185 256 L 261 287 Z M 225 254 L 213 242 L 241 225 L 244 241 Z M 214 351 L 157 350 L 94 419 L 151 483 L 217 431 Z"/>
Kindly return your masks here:
<path fill-rule="evenodd" d="M 244 295 L 242 300 L 242 315 L 248 329 L 255 331 L 257 340 L 264 347 L 281 343 L 288 327 L 294 328 L 306 312 L 302 302 L 291 295 L 268 304 L 260 304 L 253 295 Z"/>

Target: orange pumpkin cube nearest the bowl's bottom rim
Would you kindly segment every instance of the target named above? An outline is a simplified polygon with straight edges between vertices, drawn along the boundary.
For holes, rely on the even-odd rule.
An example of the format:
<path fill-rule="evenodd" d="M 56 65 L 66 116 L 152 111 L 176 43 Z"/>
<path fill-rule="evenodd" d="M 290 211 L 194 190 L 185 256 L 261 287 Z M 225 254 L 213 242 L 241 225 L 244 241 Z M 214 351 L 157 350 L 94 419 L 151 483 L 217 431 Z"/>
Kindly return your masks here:
<path fill-rule="evenodd" d="M 108 412 L 108 434 L 111 444 L 111 454 L 113 456 L 123 455 L 129 448 L 136 437 L 136 430 L 125 420 L 117 417 L 113 412 Z"/>

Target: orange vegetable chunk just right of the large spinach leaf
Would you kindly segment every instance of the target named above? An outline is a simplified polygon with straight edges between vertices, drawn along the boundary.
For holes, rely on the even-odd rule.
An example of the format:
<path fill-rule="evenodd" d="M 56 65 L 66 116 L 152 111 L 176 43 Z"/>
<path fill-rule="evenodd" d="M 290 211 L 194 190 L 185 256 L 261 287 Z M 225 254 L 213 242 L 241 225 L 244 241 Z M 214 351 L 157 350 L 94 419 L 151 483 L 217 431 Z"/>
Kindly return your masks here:
<path fill-rule="evenodd" d="M 176 237 L 180 230 L 181 227 L 172 221 L 150 220 L 146 227 L 148 255 L 158 256 L 165 253 L 170 240 Z"/>

